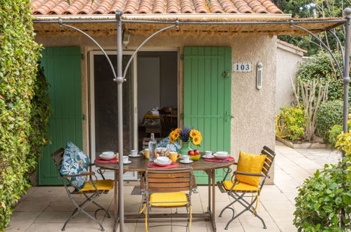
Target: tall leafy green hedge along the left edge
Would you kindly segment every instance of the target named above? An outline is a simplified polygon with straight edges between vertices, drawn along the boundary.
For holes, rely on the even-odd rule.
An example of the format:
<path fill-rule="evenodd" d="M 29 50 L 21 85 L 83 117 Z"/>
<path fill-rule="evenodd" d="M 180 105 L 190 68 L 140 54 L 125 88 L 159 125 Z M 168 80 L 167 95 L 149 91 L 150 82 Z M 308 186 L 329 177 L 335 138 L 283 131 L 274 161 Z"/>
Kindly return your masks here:
<path fill-rule="evenodd" d="M 29 176 L 47 143 L 49 96 L 37 76 L 29 0 L 0 0 L 0 231 L 30 187 Z"/>

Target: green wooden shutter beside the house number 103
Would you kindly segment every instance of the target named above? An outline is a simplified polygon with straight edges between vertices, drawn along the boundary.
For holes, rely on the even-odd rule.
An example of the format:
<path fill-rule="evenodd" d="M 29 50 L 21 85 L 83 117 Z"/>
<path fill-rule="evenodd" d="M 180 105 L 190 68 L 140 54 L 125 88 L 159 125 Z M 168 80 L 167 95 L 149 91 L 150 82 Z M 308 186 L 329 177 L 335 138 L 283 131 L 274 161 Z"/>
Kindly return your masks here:
<path fill-rule="evenodd" d="M 230 47 L 184 48 L 184 125 L 203 134 L 200 151 L 230 152 Z M 216 178 L 223 176 L 223 169 L 217 170 Z M 207 174 L 196 172 L 196 182 L 208 183 Z"/>

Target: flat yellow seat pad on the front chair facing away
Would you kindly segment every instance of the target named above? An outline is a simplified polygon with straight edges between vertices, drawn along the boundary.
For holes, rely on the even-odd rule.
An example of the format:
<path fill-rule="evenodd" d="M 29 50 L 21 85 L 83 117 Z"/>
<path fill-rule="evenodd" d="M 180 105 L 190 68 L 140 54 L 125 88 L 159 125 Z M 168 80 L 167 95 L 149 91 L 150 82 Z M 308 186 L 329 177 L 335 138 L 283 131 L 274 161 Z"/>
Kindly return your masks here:
<path fill-rule="evenodd" d="M 158 203 L 153 203 L 158 202 Z M 159 203 L 161 202 L 161 203 Z M 162 203 L 167 202 L 167 203 Z M 150 203 L 152 206 L 184 206 L 188 204 L 188 198 L 186 198 L 186 193 L 175 192 L 175 193 L 152 193 L 150 195 Z"/>

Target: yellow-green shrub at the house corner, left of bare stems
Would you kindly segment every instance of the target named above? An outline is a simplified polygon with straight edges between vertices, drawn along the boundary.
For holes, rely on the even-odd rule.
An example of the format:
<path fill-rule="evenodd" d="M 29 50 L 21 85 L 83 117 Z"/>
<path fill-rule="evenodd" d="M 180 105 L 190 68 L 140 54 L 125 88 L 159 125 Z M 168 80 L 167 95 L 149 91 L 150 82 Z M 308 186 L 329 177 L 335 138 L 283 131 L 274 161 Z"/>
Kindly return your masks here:
<path fill-rule="evenodd" d="M 296 140 L 304 135 L 306 122 L 304 120 L 305 110 L 300 106 L 297 107 L 281 107 L 281 113 L 277 115 L 277 122 L 280 131 L 284 131 L 281 137 Z M 276 130 L 278 131 L 278 129 Z M 277 136 L 280 136 L 277 134 Z"/>

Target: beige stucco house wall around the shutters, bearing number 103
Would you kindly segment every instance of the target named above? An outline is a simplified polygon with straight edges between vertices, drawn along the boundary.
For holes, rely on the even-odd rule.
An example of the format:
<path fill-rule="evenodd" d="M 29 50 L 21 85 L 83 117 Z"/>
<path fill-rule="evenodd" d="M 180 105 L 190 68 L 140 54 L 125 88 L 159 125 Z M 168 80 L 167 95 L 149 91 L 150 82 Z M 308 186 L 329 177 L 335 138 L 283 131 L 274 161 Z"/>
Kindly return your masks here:
<path fill-rule="evenodd" d="M 94 37 L 94 35 L 93 35 Z M 131 35 L 127 49 L 139 46 L 146 37 Z M 113 49 L 116 46 L 115 36 L 94 37 L 102 46 Z M 37 35 L 36 41 L 43 46 L 81 46 L 85 59 L 82 60 L 82 99 L 83 113 L 88 114 L 88 54 L 89 47 L 94 44 L 82 36 L 58 37 L 49 35 Z M 183 52 L 184 46 L 231 46 L 232 59 L 238 62 L 253 62 L 252 73 L 232 74 L 231 95 L 231 153 L 237 158 L 239 150 L 246 153 L 260 153 L 263 146 L 274 150 L 274 112 L 276 96 L 276 37 L 269 36 L 239 36 L 238 37 L 166 37 L 158 35 L 149 41 L 144 49 L 153 48 L 178 48 Z M 256 89 L 256 65 L 263 63 L 262 89 Z M 179 60 L 179 111 L 182 113 L 182 77 L 183 63 Z M 89 150 L 88 120 L 84 121 L 84 150 Z M 271 176 L 273 176 L 271 169 Z M 272 183 L 273 178 L 268 180 Z"/>

